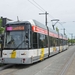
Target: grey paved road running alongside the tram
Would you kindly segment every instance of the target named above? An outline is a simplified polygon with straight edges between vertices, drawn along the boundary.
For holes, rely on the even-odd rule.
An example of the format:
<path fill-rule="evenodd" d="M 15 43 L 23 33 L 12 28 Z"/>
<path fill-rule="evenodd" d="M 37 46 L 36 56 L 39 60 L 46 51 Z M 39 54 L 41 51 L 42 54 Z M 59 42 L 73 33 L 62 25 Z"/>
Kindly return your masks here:
<path fill-rule="evenodd" d="M 37 62 L 32 65 L 23 65 L 22 69 L 9 73 L 9 75 L 64 75 L 64 72 L 68 66 L 67 64 L 69 64 L 69 61 L 74 54 L 75 46 L 71 46 L 68 50 L 41 62 Z M 67 71 L 68 70 L 66 70 L 66 72 Z M 2 75 L 3 73 L 4 71 L 0 72 Z"/>

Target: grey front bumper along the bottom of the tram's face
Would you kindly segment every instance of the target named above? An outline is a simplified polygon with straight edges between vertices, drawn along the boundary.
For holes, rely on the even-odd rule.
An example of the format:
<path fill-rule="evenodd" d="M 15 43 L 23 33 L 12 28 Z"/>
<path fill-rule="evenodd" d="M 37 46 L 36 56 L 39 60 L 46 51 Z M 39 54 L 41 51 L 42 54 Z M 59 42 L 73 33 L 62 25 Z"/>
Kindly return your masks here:
<path fill-rule="evenodd" d="M 2 58 L 3 64 L 31 64 L 31 58 Z"/>

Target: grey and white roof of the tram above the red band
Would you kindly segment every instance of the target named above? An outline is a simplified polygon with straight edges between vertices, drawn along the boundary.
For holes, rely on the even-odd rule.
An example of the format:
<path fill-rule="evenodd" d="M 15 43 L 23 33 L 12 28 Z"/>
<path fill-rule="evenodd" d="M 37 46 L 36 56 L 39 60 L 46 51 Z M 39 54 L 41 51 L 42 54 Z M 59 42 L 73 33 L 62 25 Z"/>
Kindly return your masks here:
<path fill-rule="evenodd" d="M 21 24 L 21 23 L 30 23 L 31 25 L 35 25 L 35 26 L 39 26 L 39 27 L 41 27 L 41 28 L 44 28 L 44 29 L 47 29 L 46 28 L 46 25 L 44 25 L 44 24 L 42 24 L 42 23 L 40 23 L 40 22 L 38 22 L 38 21 L 36 21 L 36 20 L 34 20 L 34 19 L 32 19 L 32 20 L 28 20 L 28 21 L 11 21 L 11 22 L 8 22 L 7 24 L 12 24 L 12 25 L 14 25 L 14 24 Z M 55 33 L 55 34 L 58 34 L 55 30 L 53 30 L 53 29 L 51 29 L 51 28 L 49 28 L 49 31 L 50 32 L 53 32 L 53 33 Z M 63 37 L 66 37 L 65 35 L 62 35 L 61 33 L 59 33 L 59 35 L 60 36 L 63 36 Z"/>

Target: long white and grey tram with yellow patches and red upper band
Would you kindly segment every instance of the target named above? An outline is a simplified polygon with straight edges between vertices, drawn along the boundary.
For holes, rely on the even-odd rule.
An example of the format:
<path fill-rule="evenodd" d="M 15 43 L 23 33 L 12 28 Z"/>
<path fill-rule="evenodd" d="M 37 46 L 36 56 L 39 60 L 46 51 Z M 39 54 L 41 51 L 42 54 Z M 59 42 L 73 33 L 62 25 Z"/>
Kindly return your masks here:
<path fill-rule="evenodd" d="M 66 50 L 67 37 L 48 29 L 36 20 L 7 23 L 2 63 L 32 64 Z"/>

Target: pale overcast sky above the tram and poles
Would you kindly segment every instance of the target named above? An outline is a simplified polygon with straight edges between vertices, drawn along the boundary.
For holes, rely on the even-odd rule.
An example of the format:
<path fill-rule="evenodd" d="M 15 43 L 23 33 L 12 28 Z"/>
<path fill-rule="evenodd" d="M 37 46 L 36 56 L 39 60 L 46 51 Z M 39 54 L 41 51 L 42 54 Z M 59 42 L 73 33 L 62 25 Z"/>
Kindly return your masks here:
<path fill-rule="evenodd" d="M 40 6 L 40 7 L 39 7 Z M 55 27 L 63 33 L 65 28 L 66 35 L 75 38 L 75 0 L 0 0 L 0 17 L 7 17 L 17 21 L 35 19 L 45 24 L 45 15 L 39 13 L 48 12 L 47 25 L 52 28 L 53 19 L 59 19 Z M 56 21 L 55 21 L 56 22 Z M 53 21 L 53 23 L 55 23 Z"/>

